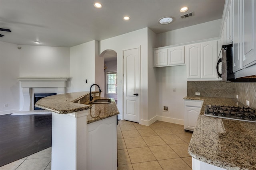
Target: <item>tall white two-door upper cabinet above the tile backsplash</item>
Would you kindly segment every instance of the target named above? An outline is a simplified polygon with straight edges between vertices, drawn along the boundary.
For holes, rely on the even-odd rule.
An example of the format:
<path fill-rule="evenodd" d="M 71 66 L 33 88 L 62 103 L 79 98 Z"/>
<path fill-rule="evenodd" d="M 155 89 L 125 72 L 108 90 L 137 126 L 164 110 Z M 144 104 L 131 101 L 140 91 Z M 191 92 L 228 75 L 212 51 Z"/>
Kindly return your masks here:
<path fill-rule="evenodd" d="M 188 80 L 218 80 L 217 41 L 208 41 L 185 47 Z"/>

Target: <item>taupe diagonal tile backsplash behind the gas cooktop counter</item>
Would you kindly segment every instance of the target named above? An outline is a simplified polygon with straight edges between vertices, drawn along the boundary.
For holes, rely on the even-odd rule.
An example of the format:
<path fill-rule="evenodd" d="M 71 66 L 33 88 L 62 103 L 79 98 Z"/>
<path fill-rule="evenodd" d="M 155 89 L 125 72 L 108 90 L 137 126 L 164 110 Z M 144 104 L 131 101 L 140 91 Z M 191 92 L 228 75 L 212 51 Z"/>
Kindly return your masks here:
<path fill-rule="evenodd" d="M 236 98 L 246 105 L 256 109 L 256 83 L 233 83 L 224 81 L 188 81 L 188 96 L 196 96 L 200 92 L 202 97 Z M 199 97 L 199 96 L 198 96 Z"/>

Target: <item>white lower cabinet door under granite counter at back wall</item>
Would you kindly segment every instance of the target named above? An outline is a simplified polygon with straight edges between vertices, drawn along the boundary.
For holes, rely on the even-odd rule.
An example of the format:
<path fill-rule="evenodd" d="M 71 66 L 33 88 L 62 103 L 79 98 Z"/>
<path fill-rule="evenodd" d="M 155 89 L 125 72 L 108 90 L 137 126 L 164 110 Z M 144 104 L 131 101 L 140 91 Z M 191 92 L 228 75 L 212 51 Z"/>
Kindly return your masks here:
<path fill-rule="evenodd" d="M 184 129 L 193 131 L 200 114 L 201 107 L 185 107 Z"/>

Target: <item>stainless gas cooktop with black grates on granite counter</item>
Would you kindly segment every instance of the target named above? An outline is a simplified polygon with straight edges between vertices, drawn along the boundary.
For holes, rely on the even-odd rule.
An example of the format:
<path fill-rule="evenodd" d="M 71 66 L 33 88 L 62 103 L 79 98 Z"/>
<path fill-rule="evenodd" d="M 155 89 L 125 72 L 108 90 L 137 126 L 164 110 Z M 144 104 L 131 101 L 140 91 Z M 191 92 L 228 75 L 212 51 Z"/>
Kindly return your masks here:
<path fill-rule="evenodd" d="M 256 122 L 255 110 L 250 107 L 206 105 L 204 115 L 224 119 Z"/>

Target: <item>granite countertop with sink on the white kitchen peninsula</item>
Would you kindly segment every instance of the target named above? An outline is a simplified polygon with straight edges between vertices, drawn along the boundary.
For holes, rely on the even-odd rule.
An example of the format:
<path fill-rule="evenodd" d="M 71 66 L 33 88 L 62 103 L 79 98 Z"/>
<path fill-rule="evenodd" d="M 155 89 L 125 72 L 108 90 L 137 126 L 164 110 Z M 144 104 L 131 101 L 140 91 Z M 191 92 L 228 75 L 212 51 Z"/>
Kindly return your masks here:
<path fill-rule="evenodd" d="M 114 99 L 111 100 L 110 104 L 89 104 L 87 101 L 82 102 L 88 99 L 89 95 L 90 92 L 73 92 L 48 96 L 38 100 L 35 106 L 59 114 L 89 109 L 87 124 L 119 114 Z M 81 103 L 78 103 L 78 100 L 81 100 Z"/>

